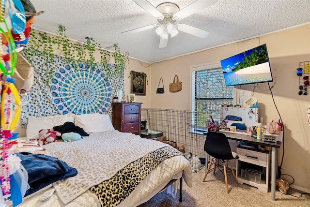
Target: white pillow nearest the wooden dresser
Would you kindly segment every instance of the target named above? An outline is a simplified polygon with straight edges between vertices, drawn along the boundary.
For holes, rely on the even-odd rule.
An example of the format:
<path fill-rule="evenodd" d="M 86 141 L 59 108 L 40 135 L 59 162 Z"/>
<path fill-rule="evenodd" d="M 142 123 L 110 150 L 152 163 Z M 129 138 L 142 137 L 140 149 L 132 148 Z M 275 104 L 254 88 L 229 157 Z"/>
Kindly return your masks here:
<path fill-rule="evenodd" d="M 75 124 L 87 133 L 104 132 L 114 129 L 111 119 L 107 114 L 81 114 L 76 115 Z"/>

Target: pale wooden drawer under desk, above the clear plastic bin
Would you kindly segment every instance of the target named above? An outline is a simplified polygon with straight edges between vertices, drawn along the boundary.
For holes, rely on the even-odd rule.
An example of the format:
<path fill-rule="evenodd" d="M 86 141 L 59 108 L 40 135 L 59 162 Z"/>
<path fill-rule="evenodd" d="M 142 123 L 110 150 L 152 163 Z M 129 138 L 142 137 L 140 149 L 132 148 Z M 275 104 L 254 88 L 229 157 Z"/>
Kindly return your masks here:
<path fill-rule="evenodd" d="M 268 154 L 249 149 L 237 148 L 239 160 L 247 163 L 267 167 Z"/>

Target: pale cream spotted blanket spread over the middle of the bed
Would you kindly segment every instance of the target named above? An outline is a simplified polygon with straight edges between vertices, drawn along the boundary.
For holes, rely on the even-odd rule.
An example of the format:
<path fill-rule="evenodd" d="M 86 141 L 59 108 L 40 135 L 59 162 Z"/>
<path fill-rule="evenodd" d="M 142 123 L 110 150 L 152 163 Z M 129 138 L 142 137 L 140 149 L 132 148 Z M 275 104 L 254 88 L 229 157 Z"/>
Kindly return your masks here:
<path fill-rule="evenodd" d="M 45 148 L 47 155 L 78 170 L 77 176 L 53 183 L 61 201 L 68 204 L 91 187 L 109 180 L 130 163 L 167 146 L 132 133 L 108 130 L 91 133 L 89 137 L 74 142 L 49 143 Z"/>

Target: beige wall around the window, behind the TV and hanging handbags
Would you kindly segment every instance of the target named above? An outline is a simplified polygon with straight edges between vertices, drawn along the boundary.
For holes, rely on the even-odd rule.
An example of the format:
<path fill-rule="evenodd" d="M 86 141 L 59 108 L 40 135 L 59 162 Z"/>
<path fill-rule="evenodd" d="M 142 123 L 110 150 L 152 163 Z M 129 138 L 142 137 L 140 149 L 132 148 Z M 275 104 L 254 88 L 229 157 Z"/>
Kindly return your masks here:
<path fill-rule="evenodd" d="M 255 97 L 258 99 L 260 117 L 264 124 L 279 118 L 285 127 L 284 158 L 281 173 L 294 177 L 292 187 L 310 192 L 310 126 L 307 124 L 307 107 L 310 94 L 298 95 L 299 77 L 296 68 L 299 62 L 310 61 L 310 24 L 262 35 L 240 43 L 208 49 L 196 54 L 154 63 L 151 66 L 150 107 L 168 109 L 191 109 L 190 68 L 197 65 L 217 63 L 255 46 L 267 44 L 274 81 L 270 83 L 273 98 L 267 83 L 258 84 Z M 169 83 L 174 75 L 183 82 L 183 89 L 169 92 Z M 163 77 L 165 93 L 156 94 L 160 77 Z M 239 87 L 238 87 L 239 89 Z M 253 85 L 241 86 L 242 90 L 253 90 Z M 308 87 L 310 91 L 310 87 Z M 308 91 L 308 92 L 309 92 Z M 283 149 L 279 149 L 279 164 Z M 289 182 L 292 180 L 287 178 Z"/>

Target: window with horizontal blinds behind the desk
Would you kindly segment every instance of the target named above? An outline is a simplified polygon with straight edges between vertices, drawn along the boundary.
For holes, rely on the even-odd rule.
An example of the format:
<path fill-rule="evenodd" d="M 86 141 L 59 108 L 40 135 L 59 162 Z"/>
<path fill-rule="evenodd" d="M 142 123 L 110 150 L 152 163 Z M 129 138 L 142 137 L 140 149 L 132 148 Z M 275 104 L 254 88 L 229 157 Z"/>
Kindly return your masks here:
<path fill-rule="evenodd" d="M 223 104 L 233 104 L 233 87 L 226 87 L 220 64 L 192 70 L 192 111 L 195 111 L 194 126 L 205 128 L 206 122 L 220 121 Z"/>

